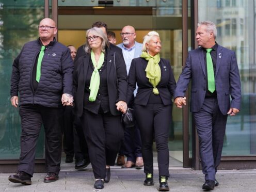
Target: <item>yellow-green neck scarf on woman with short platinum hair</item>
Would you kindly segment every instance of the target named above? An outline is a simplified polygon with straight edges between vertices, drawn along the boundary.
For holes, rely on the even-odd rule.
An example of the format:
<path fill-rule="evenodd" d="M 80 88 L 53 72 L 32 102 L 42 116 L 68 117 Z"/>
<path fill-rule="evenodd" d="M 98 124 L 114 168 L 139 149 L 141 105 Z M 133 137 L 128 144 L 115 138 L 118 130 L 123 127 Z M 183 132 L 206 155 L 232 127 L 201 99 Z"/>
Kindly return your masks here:
<path fill-rule="evenodd" d="M 154 57 L 147 52 L 142 52 L 140 55 L 141 58 L 145 58 L 148 61 L 146 71 L 146 76 L 149 78 L 149 82 L 153 85 L 153 93 L 159 94 L 158 89 L 156 86 L 160 82 L 161 79 L 161 69 L 158 65 L 160 61 L 159 53 L 156 54 Z"/>

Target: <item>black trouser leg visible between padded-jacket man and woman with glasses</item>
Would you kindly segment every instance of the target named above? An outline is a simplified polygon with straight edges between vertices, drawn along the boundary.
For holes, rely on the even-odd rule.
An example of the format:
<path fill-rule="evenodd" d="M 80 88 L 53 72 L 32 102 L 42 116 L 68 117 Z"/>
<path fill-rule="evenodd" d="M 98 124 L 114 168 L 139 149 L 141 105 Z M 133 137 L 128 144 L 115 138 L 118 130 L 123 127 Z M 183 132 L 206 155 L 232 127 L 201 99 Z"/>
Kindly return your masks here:
<path fill-rule="evenodd" d="M 74 156 L 73 135 L 74 114 L 71 106 L 66 106 L 63 113 L 63 150 L 67 156 Z"/>

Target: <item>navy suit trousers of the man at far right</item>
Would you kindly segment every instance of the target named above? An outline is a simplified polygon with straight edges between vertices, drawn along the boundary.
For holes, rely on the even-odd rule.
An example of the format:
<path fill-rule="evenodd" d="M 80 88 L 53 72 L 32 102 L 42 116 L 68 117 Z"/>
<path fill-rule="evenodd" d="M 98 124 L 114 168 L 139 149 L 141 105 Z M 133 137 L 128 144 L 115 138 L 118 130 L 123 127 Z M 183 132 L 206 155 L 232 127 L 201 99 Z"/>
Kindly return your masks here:
<path fill-rule="evenodd" d="M 202 108 L 193 115 L 199 137 L 202 171 L 205 180 L 214 181 L 220 163 L 228 115 L 223 115 L 219 110 L 217 98 L 205 98 Z"/>

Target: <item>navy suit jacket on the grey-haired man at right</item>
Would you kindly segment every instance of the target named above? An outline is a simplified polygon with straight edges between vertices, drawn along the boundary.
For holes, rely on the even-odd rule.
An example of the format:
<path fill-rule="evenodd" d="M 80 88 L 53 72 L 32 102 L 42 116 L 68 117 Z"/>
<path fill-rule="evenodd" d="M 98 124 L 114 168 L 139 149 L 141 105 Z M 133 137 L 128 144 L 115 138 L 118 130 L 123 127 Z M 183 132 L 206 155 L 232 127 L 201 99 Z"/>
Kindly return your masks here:
<path fill-rule="evenodd" d="M 191 79 L 191 112 L 198 112 L 205 98 L 206 73 L 204 51 L 202 47 L 188 52 L 186 66 L 179 77 L 174 98 L 184 97 Z M 227 115 L 230 108 L 240 109 L 241 83 L 235 52 L 218 44 L 215 86 L 218 106 L 223 115 Z M 230 103 L 231 96 L 231 103 Z"/>

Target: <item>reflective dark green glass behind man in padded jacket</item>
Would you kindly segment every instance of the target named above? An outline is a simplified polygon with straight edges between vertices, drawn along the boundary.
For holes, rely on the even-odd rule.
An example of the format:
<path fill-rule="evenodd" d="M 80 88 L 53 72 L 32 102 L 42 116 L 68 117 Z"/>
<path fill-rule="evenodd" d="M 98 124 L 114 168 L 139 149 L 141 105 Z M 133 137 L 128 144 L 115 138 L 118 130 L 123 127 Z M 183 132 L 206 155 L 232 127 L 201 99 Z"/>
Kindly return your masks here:
<path fill-rule="evenodd" d="M 37 26 L 44 18 L 43 0 L 0 3 L 0 159 L 18 159 L 20 155 L 19 109 L 10 103 L 12 62 L 25 42 L 38 38 Z M 44 138 L 37 145 L 37 158 L 43 157 Z"/>

